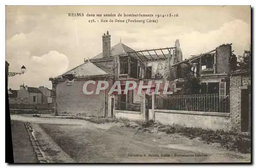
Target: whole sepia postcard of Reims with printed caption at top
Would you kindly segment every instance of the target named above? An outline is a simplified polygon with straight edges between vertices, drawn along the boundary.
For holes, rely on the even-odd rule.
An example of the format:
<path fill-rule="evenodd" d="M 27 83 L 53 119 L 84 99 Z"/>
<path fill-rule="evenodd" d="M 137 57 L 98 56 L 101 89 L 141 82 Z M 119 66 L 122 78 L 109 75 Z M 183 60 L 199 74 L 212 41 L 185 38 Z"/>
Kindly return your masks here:
<path fill-rule="evenodd" d="M 251 162 L 250 6 L 6 6 L 6 79 L 14 163 Z"/>

